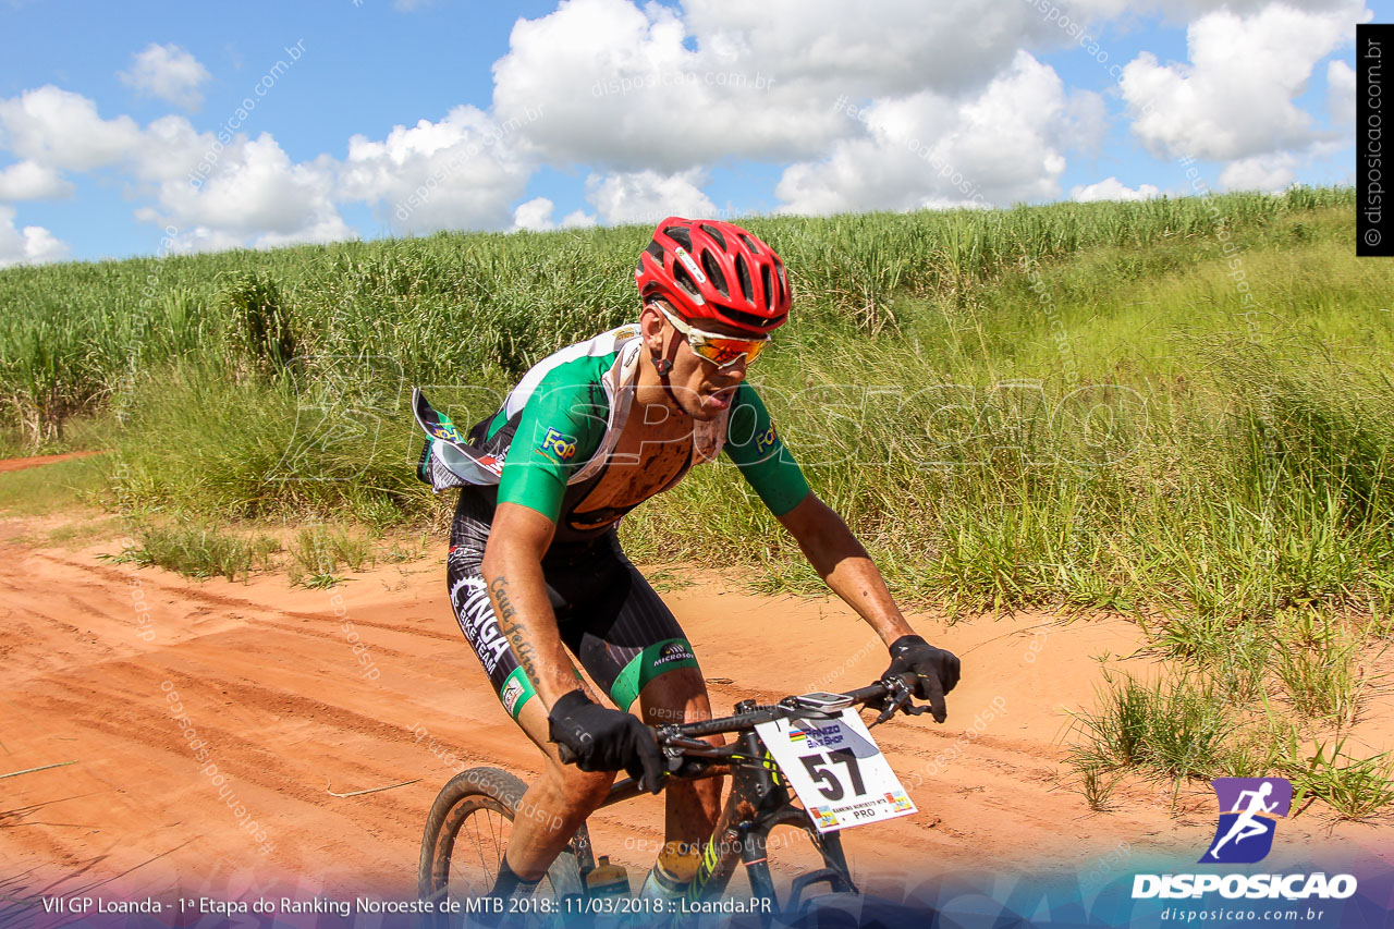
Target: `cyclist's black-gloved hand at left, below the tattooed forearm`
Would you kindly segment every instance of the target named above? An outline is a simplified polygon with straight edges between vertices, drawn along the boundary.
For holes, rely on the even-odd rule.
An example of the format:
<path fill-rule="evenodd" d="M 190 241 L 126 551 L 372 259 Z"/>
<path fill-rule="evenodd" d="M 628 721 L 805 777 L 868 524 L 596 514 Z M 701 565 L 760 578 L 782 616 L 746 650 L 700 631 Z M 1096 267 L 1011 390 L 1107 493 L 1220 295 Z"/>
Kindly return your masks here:
<path fill-rule="evenodd" d="M 562 695 L 546 716 L 548 738 L 563 762 L 583 771 L 629 771 L 640 787 L 657 794 L 664 781 L 664 756 L 638 717 L 597 706 L 580 690 Z M 573 757 L 567 757 L 567 756 Z"/>

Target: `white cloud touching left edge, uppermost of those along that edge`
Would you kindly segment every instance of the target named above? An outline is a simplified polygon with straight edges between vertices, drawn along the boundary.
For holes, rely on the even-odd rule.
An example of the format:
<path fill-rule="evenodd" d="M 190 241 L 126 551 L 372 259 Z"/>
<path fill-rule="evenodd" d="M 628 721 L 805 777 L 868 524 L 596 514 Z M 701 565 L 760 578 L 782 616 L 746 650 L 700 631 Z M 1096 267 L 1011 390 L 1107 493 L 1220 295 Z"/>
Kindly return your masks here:
<path fill-rule="evenodd" d="M 0 144 L 47 167 L 103 167 L 130 155 L 139 141 L 141 128 L 130 116 L 103 120 L 96 103 L 52 84 L 0 100 Z"/>

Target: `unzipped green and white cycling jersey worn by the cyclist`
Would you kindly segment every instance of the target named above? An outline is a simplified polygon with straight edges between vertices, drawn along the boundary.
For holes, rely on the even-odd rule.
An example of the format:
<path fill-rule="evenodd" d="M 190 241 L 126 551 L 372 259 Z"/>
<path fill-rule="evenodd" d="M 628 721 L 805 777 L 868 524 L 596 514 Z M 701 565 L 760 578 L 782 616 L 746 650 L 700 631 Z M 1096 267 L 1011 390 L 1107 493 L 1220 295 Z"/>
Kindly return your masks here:
<path fill-rule="evenodd" d="M 638 326 L 627 325 L 548 356 L 468 437 L 417 391 L 417 421 L 428 435 L 418 476 L 436 491 L 496 485 L 499 502 L 520 504 L 553 520 L 558 541 L 604 533 L 641 502 L 579 512 L 606 477 L 619 480 L 613 453 L 633 405 L 640 349 Z M 719 441 L 774 515 L 782 516 L 809 494 L 799 464 L 749 384 L 736 389 Z"/>

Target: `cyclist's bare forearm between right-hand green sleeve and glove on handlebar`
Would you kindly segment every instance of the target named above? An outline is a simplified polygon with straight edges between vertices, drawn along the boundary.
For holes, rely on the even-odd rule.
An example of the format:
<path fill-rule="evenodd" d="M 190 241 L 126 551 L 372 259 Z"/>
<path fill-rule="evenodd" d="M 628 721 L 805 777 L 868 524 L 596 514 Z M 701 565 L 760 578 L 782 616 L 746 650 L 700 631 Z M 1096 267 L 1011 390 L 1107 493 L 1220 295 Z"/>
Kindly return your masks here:
<path fill-rule="evenodd" d="M 856 610 L 882 642 L 891 644 L 914 632 L 891 598 L 867 550 L 817 494 L 810 491 L 797 506 L 779 516 L 779 522 L 832 593 Z"/>

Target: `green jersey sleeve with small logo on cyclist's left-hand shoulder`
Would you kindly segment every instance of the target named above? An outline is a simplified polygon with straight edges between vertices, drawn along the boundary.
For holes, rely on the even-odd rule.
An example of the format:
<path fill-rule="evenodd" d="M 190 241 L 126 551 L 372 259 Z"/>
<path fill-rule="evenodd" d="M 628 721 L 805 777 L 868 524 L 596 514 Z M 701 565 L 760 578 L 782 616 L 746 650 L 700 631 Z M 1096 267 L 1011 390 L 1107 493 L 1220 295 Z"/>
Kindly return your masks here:
<path fill-rule="evenodd" d="M 609 403 L 599 384 L 549 381 L 537 386 L 519 414 L 499 477 L 499 502 L 527 506 L 555 523 L 566 481 L 605 438 Z"/>

